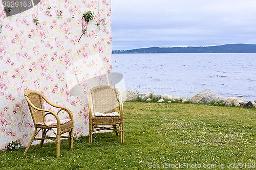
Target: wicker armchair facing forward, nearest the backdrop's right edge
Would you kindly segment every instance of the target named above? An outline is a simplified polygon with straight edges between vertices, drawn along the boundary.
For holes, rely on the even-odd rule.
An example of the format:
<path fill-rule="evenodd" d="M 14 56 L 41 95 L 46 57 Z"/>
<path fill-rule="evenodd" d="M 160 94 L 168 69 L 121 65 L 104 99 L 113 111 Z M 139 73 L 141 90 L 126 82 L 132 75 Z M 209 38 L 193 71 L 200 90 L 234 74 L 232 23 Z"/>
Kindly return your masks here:
<path fill-rule="evenodd" d="M 115 112 L 119 99 L 119 111 Z M 97 86 L 88 93 L 89 104 L 89 143 L 92 142 L 92 133 L 99 130 L 118 131 L 123 143 L 123 104 L 118 89 L 112 86 Z M 110 125 L 110 126 L 108 126 Z"/>

